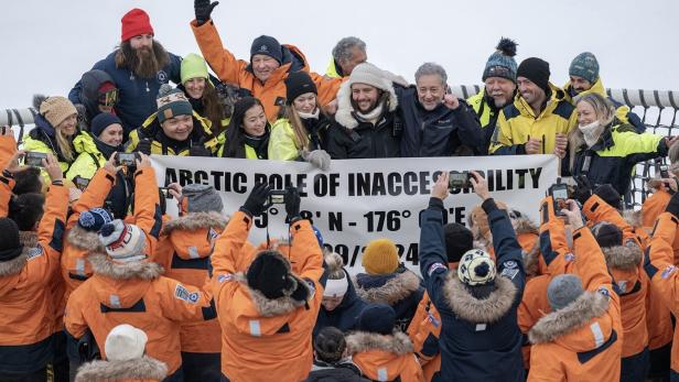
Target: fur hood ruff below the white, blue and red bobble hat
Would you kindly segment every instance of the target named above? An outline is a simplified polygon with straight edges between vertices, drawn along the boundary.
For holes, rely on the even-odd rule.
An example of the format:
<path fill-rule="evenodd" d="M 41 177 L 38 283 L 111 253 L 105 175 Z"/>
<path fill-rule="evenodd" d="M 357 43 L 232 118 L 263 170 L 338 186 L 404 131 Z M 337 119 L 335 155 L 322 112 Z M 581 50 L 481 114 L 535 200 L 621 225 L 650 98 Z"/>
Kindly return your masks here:
<path fill-rule="evenodd" d="M 114 280 L 154 280 L 164 272 L 160 264 L 151 261 L 130 261 L 128 263 L 118 263 L 103 253 L 91 253 L 87 257 L 87 260 L 89 261 L 89 264 L 91 264 L 91 270 L 95 274 Z"/>

